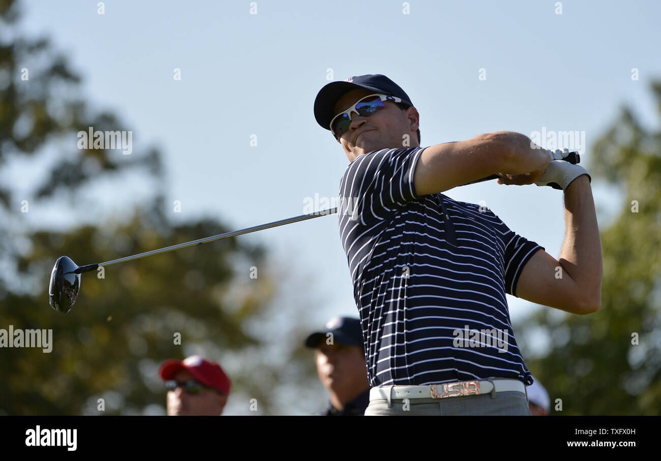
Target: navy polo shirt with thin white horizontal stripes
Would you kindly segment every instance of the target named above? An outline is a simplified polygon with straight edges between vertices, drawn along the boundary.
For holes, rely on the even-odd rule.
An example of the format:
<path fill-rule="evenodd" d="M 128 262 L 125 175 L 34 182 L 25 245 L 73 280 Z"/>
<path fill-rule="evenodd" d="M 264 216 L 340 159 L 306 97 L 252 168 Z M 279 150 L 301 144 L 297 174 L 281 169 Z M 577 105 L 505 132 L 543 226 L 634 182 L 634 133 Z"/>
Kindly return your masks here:
<path fill-rule="evenodd" d="M 416 195 L 413 173 L 423 150 L 360 155 L 340 184 L 340 236 L 369 382 L 422 385 L 493 376 L 532 384 L 505 294 L 516 296 L 523 267 L 544 248 L 486 207 L 444 194 Z"/>

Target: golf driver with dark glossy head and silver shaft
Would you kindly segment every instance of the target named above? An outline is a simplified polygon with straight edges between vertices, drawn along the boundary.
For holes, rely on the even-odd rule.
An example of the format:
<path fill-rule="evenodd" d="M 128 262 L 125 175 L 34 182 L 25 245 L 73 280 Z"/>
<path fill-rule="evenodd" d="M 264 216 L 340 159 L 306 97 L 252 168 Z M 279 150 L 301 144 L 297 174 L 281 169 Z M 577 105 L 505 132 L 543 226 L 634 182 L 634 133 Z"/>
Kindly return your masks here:
<path fill-rule="evenodd" d="M 576 164 L 580 162 L 580 157 L 578 153 L 572 152 L 563 160 Z M 469 182 L 468 184 L 475 184 L 477 182 L 488 181 L 492 179 L 500 178 L 497 174 L 492 174 L 481 180 Z M 465 184 L 467 186 L 468 184 Z M 199 240 L 192 240 L 192 242 L 180 243 L 178 245 L 167 246 L 159 250 L 151 250 L 149 252 L 144 252 L 140 254 L 134 254 L 133 256 L 126 256 L 126 258 L 119 258 L 117 260 L 107 261 L 99 264 L 88 264 L 87 266 L 77 266 L 71 258 L 68 256 L 60 256 L 55 262 L 53 271 L 50 274 L 50 285 L 48 287 L 48 298 L 50 306 L 66 314 L 73 307 L 73 303 L 76 302 L 78 293 L 81 289 L 81 273 L 94 271 L 98 267 L 110 266 L 111 264 L 117 264 L 124 261 L 138 260 L 140 258 L 145 258 L 146 256 L 152 256 L 154 254 L 161 254 L 171 252 L 173 250 L 178 250 L 180 248 L 188 248 L 189 246 L 199 245 L 207 242 L 214 242 L 215 240 L 220 240 L 221 238 L 229 238 L 241 234 L 249 234 L 250 232 L 256 232 L 258 230 L 270 229 L 272 227 L 284 226 L 286 224 L 297 223 L 298 221 L 305 221 L 306 219 L 312 219 L 319 216 L 332 215 L 337 213 L 337 207 L 315 211 L 315 213 L 309 213 L 307 215 L 300 215 L 293 218 L 281 219 L 280 221 L 273 221 L 272 223 L 266 223 L 259 226 L 247 227 L 246 229 L 235 230 L 233 232 L 225 232 L 224 234 L 218 234 L 211 237 L 200 238 Z"/>

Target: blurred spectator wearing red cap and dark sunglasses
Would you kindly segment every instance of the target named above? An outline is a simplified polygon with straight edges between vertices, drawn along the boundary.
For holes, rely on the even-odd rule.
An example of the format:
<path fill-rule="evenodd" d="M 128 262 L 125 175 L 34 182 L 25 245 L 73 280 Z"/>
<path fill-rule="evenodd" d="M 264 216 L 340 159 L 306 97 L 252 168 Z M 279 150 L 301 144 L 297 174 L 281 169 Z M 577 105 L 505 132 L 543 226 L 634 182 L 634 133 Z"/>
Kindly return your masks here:
<path fill-rule="evenodd" d="M 159 375 L 168 388 L 169 416 L 218 416 L 229 395 L 230 381 L 220 365 L 199 355 L 165 361 Z"/>

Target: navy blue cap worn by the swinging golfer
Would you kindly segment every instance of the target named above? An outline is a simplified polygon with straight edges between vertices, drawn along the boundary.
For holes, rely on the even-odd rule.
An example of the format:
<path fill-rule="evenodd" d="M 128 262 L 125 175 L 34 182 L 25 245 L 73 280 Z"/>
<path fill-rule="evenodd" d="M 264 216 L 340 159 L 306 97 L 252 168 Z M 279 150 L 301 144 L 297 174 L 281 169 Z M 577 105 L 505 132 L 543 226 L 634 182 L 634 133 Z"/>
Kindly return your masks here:
<path fill-rule="evenodd" d="M 344 81 L 331 82 L 319 90 L 315 99 L 315 118 L 317 119 L 317 123 L 322 128 L 331 131 L 331 120 L 337 115 L 334 114 L 336 102 L 342 97 L 342 94 L 359 88 L 395 96 L 407 104 L 413 105 L 408 94 L 397 83 L 385 75 L 358 75 L 358 77 L 349 77 Z"/>

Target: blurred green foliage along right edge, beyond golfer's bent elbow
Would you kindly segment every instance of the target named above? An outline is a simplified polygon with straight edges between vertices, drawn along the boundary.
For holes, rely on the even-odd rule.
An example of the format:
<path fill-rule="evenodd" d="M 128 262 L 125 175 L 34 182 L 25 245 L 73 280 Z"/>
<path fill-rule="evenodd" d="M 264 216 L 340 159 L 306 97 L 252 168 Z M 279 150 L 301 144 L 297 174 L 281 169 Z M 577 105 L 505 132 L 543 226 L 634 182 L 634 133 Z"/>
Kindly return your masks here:
<path fill-rule="evenodd" d="M 661 83 L 652 92 L 661 115 Z M 622 191 L 615 222 L 601 232 L 602 307 L 589 316 L 545 308 L 517 330 L 541 326 L 551 337 L 548 355 L 527 360 L 549 391 L 551 414 L 659 415 L 661 130 L 623 108 L 593 154 L 593 180 Z M 553 410 L 558 398 L 561 412 Z"/>

